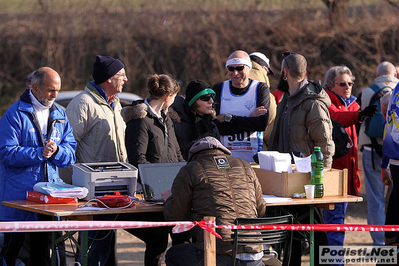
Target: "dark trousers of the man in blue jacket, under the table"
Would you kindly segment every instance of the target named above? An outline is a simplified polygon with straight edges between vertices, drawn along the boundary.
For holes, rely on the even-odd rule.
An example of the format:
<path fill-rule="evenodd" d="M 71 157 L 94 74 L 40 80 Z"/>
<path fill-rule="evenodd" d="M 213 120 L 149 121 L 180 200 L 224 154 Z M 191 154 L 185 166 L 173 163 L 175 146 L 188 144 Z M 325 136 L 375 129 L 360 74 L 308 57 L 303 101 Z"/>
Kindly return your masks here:
<path fill-rule="evenodd" d="M 41 221 L 49 220 L 47 216 L 39 216 Z M 0 252 L 0 257 L 4 258 L 7 266 L 15 265 L 15 260 L 21 250 L 24 241 L 25 234 L 30 234 L 30 252 L 28 265 L 43 265 L 50 266 L 50 249 L 51 249 L 51 233 L 50 232 L 37 232 L 37 233 L 5 233 L 4 244 Z M 61 235 L 60 232 L 56 233 L 57 237 Z M 61 266 L 66 265 L 65 259 L 65 245 L 59 243 L 57 252 L 54 254 L 57 256 L 57 261 L 60 262 Z"/>

